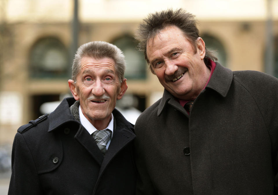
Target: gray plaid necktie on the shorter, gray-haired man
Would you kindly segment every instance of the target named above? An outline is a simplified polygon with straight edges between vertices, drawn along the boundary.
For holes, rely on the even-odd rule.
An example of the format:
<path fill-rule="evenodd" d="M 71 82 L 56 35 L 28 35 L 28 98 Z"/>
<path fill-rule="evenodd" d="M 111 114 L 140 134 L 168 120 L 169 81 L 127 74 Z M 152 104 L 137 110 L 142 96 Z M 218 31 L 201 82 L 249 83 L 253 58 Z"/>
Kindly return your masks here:
<path fill-rule="evenodd" d="M 109 141 L 109 138 L 111 137 L 111 133 L 112 132 L 109 129 L 105 129 L 101 131 L 95 131 L 92 134 L 102 154 L 105 154 L 106 152 L 106 144 Z"/>

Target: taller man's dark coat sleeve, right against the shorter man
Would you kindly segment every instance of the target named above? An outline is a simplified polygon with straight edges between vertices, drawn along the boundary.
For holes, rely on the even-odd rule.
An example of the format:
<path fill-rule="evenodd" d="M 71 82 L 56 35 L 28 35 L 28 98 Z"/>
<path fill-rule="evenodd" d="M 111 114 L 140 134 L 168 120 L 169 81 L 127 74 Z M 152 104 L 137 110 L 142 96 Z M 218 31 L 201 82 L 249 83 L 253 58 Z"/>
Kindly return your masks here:
<path fill-rule="evenodd" d="M 142 116 L 141 116 L 142 117 Z M 136 195 L 157 195 L 155 187 L 152 184 L 151 178 L 148 173 L 148 168 L 146 166 L 145 157 L 144 157 L 144 127 L 145 125 L 140 125 L 144 123 L 140 123 L 140 121 L 144 121 L 139 119 L 135 124 L 135 162 L 138 170 L 138 179 L 136 184 Z"/>

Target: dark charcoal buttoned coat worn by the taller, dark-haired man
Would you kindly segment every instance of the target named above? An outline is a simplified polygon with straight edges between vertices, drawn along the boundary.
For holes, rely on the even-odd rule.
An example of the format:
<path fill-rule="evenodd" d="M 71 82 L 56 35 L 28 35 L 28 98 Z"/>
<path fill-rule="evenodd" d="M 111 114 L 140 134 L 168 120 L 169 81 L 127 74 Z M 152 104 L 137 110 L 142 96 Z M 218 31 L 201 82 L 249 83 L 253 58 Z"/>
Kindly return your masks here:
<path fill-rule="evenodd" d="M 135 124 L 137 195 L 273 195 L 278 79 L 216 63 L 190 115 L 168 92 Z"/>

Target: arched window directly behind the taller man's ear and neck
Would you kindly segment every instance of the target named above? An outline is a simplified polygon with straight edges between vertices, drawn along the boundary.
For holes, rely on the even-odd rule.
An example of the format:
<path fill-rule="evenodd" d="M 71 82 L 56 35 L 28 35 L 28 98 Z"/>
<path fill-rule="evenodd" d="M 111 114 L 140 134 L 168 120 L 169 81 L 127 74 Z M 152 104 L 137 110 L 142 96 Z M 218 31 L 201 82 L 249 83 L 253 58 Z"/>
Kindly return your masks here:
<path fill-rule="evenodd" d="M 218 61 L 221 65 L 227 66 L 227 57 L 226 57 L 226 50 L 223 46 L 223 44 L 215 37 L 205 34 L 202 36 L 202 39 L 204 40 L 206 44 L 206 48 L 213 50 L 216 52 L 216 57 L 218 58 Z"/>

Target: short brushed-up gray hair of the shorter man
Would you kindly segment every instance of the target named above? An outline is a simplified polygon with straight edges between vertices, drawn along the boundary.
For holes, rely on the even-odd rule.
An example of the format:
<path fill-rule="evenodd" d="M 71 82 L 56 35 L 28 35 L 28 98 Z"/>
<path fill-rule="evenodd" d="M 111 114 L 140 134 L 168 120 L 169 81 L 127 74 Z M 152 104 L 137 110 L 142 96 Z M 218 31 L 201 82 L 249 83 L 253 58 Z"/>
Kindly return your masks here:
<path fill-rule="evenodd" d="M 74 56 L 72 64 L 72 80 L 76 82 L 76 76 L 81 71 L 81 60 L 83 57 L 92 57 L 95 59 L 111 58 L 115 61 L 116 74 L 122 82 L 125 74 L 125 56 L 116 46 L 105 41 L 92 41 L 81 45 Z"/>

